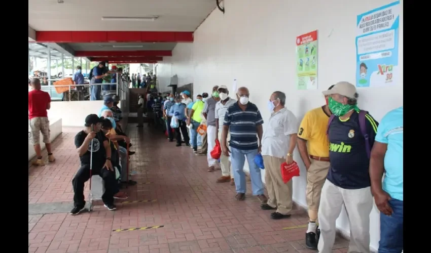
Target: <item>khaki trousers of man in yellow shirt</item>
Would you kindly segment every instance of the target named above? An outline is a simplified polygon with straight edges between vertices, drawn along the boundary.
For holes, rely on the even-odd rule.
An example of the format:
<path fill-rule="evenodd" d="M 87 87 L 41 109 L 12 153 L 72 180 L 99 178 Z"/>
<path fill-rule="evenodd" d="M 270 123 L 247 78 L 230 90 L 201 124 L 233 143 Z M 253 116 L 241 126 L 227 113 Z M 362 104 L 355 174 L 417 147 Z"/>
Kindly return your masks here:
<path fill-rule="evenodd" d="M 325 183 L 330 163 L 329 161 L 311 160 L 307 171 L 307 187 L 305 191 L 308 210 L 315 213 L 319 210 L 320 194 Z"/>

